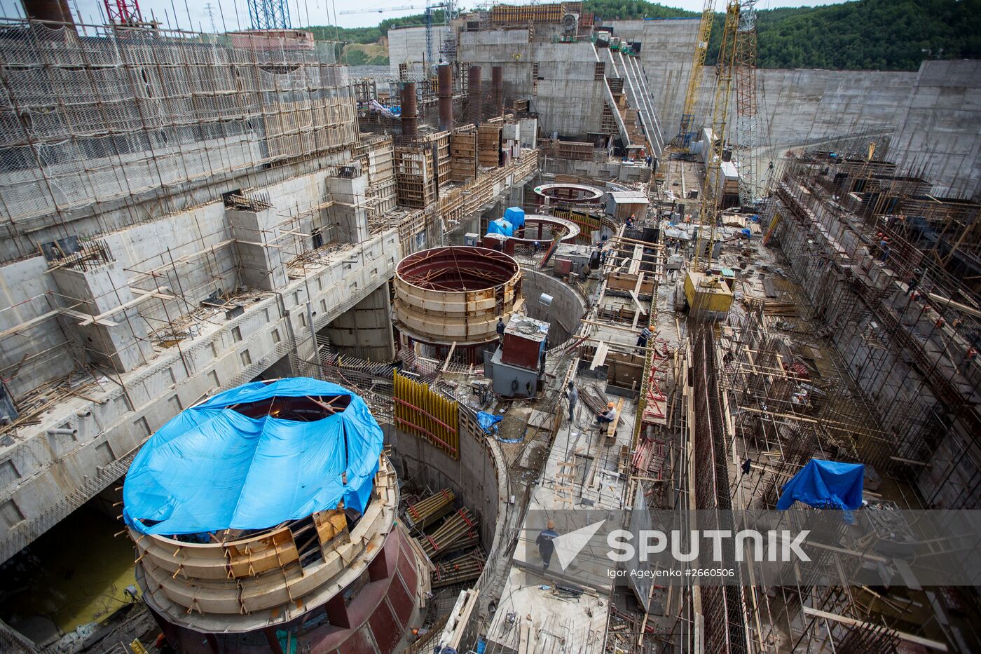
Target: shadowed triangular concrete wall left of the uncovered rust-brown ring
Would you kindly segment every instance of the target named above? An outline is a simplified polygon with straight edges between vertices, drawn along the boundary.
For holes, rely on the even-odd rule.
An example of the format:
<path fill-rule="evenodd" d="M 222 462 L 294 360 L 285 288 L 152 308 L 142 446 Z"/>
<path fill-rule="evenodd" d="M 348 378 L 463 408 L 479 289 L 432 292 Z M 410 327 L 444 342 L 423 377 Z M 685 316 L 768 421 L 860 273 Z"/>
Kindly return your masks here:
<path fill-rule="evenodd" d="M 320 331 L 341 354 L 390 361 L 395 357 L 391 299 L 384 285 Z"/>

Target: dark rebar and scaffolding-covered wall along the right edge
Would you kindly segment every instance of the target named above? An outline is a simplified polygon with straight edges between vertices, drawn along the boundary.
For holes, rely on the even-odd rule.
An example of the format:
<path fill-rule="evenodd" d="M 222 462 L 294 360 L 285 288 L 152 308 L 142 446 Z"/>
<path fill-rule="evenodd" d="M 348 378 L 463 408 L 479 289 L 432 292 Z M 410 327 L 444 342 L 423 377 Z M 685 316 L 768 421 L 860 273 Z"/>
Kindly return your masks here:
<path fill-rule="evenodd" d="M 973 207 L 948 202 L 956 210 L 947 217 L 940 201 L 927 203 L 927 217 L 875 213 L 867 207 L 883 206 L 884 194 L 896 197 L 886 207 L 916 210 L 920 201 L 906 192 L 919 182 L 894 174 L 890 185 L 875 162 L 844 168 L 803 160 L 788 169 L 777 190 L 787 217 L 776 240 L 794 277 L 810 280 L 801 284 L 804 301 L 885 432 L 880 456 L 858 452 L 879 472 L 914 481 L 927 506 L 976 508 L 981 416 L 972 352 L 981 345 L 981 297 L 964 279 L 978 245 L 973 221 L 963 219 Z M 843 184 L 869 191 L 840 194 Z"/>

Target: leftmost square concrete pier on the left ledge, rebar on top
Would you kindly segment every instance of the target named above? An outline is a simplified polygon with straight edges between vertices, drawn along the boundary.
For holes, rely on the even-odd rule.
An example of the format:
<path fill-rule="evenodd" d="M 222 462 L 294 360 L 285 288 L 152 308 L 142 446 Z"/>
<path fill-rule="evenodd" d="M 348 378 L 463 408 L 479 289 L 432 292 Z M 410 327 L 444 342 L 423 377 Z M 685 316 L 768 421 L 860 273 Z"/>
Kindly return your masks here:
<path fill-rule="evenodd" d="M 119 262 L 107 261 L 84 270 L 54 268 L 51 275 L 66 302 L 80 302 L 75 307 L 79 313 L 98 316 L 127 306 L 88 325 L 78 324 L 82 318 L 62 317 L 66 332 L 77 339 L 92 362 L 127 372 L 153 357 L 146 322 L 139 316 L 133 301 L 137 298 Z"/>

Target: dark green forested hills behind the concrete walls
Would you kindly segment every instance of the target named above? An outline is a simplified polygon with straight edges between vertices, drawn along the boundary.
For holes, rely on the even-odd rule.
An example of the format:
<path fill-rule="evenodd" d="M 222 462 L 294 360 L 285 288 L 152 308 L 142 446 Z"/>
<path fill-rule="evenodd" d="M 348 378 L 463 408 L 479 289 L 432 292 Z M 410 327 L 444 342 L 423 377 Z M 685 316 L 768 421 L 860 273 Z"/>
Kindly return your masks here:
<path fill-rule="evenodd" d="M 723 0 L 716 0 L 716 8 Z M 585 0 L 600 19 L 697 18 L 644 0 Z M 442 23 L 435 13 L 435 23 Z M 707 62 L 718 53 L 725 15 L 712 26 Z M 424 25 L 422 15 L 386 19 L 377 27 L 310 27 L 317 38 L 375 43 L 389 27 Z M 981 58 L 981 0 L 857 0 L 838 5 L 757 12 L 759 68 L 915 71 L 924 59 Z M 338 50 L 339 54 L 339 50 Z M 351 65 L 387 64 L 345 49 Z"/>

